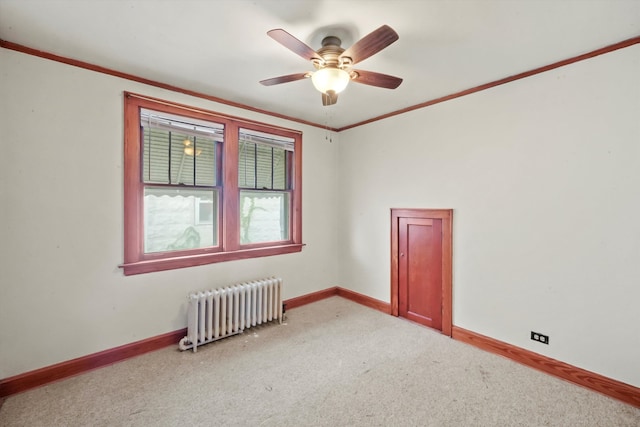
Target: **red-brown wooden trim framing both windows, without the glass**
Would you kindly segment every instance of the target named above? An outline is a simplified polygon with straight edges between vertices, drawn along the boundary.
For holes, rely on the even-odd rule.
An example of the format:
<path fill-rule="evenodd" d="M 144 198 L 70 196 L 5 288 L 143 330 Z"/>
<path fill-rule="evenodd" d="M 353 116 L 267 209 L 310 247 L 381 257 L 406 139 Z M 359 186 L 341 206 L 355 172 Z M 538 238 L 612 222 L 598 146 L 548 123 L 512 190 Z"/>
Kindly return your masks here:
<path fill-rule="evenodd" d="M 140 109 L 146 108 L 170 114 L 188 116 L 225 126 L 221 177 L 224 183 L 220 202 L 219 246 L 203 249 L 145 254 L 143 250 L 143 190 L 140 179 L 142 164 L 140 149 Z M 241 127 L 294 139 L 295 150 L 291 179 L 290 236 L 284 242 L 240 244 L 238 150 L 231 143 Z M 236 165 L 236 166 L 234 166 Z M 299 131 L 270 126 L 242 118 L 226 116 L 208 110 L 156 98 L 124 92 L 124 262 L 125 275 L 150 273 L 193 267 L 217 262 L 288 254 L 302 250 L 302 134 Z"/>

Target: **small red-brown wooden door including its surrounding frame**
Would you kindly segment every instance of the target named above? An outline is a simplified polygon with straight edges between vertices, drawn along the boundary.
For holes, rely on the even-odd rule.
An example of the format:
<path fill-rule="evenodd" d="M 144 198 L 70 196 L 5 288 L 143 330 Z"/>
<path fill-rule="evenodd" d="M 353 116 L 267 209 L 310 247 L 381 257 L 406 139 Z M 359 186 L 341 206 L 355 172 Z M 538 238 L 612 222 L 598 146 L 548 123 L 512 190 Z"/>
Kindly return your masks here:
<path fill-rule="evenodd" d="M 451 335 L 450 210 L 392 210 L 392 314 Z"/>

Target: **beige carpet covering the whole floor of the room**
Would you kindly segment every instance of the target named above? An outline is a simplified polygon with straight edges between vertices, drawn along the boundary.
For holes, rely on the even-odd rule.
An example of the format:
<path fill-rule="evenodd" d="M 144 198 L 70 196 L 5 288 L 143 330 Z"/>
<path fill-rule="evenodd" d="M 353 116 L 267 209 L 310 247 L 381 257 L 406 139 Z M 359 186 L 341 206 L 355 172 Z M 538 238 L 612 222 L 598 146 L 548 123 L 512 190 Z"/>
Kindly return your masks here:
<path fill-rule="evenodd" d="M 10 396 L 10 426 L 640 426 L 640 409 L 340 297 Z"/>

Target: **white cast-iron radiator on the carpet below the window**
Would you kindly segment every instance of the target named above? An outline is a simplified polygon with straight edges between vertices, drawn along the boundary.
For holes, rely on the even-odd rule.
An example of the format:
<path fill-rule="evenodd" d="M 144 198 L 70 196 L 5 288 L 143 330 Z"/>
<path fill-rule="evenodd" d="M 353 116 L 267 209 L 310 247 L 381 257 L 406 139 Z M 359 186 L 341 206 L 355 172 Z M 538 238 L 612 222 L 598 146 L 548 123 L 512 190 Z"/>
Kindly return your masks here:
<path fill-rule="evenodd" d="M 282 323 L 282 279 L 268 278 L 189 295 L 187 336 L 180 350 L 207 344 L 246 328 Z"/>

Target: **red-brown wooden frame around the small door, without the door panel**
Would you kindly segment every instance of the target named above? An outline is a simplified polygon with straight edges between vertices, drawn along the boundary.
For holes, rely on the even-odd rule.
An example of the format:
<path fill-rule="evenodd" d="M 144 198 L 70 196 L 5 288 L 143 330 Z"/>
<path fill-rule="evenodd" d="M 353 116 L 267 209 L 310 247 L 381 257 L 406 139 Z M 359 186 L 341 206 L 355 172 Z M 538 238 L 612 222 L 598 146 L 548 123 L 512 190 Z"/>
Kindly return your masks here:
<path fill-rule="evenodd" d="M 391 314 L 398 317 L 400 275 L 398 240 L 400 218 L 442 220 L 442 333 L 451 336 L 453 312 L 453 209 L 391 208 Z"/>

